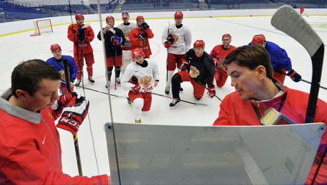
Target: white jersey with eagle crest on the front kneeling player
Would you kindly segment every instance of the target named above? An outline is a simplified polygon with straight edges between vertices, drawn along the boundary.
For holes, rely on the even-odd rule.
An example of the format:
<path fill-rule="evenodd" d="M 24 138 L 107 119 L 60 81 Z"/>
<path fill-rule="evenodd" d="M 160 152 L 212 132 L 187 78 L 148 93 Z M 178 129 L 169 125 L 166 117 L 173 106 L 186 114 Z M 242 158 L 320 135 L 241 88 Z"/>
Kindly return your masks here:
<path fill-rule="evenodd" d="M 129 80 L 134 75 L 141 85 L 140 92 L 147 93 L 152 91 L 154 88 L 154 81 L 159 80 L 159 70 L 155 61 L 149 58 L 145 60 L 148 63 L 146 67 L 142 67 L 136 62 L 132 62 L 126 67 L 121 80 L 121 85 L 124 90 L 132 90 L 135 84 L 130 83 Z"/>

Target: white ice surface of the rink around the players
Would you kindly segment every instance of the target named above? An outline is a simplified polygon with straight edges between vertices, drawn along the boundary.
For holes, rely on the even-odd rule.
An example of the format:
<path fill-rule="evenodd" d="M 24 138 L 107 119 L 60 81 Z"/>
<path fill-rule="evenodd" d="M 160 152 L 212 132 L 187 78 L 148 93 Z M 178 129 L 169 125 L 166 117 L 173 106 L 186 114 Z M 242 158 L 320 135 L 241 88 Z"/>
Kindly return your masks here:
<path fill-rule="evenodd" d="M 326 46 L 327 16 L 309 16 L 303 18 L 306 19 L 314 28 Z M 102 17 L 102 19 L 105 18 Z M 229 33 L 232 36 L 231 45 L 234 46 L 247 45 L 251 42 L 254 35 L 264 34 L 267 41 L 275 42 L 287 51 L 288 56 L 292 60 L 293 69 L 302 76 L 302 79 L 311 81 L 312 65 L 307 51 L 293 38 L 271 26 L 270 20 L 271 16 L 186 18 L 184 19 L 183 24 L 188 26 L 192 32 L 192 45 L 193 42 L 198 39 L 204 40 L 205 51 L 207 53 L 210 53 L 215 45 L 221 44 L 221 36 L 225 33 Z M 135 23 L 135 20 L 131 19 L 130 22 Z M 167 50 L 161 43 L 161 34 L 163 28 L 165 28 L 169 22 L 173 23 L 174 19 L 147 20 L 145 18 L 145 22 L 148 23 L 150 29 L 152 29 L 152 32 L 154 33 L 154 38 L 149 40 L 152 50 L 150 58 L 155 60 L 159 66 L 160 81 L 158 86 L 153 89 L 153 92 L 165 95 Z M 122 23 L 121 20 L 116 20 L 115 26 L 120 23 Z M 103 22 L 102 24 L 104 25 L 105 23 Z M 0 26 L 1 29 L 6 29 L 6 23 L 0 24 Z M 67 27 L 68 25 L 55 26 L 53 27 L 53 33 L 35 37 L 30 36 L 32 31 L 1 37 L 0 55 L 2 57 L 0 60 L 0 93 L 10 87 L 11 72 L 21 61 L 29 59 L 46 60 L 52 57 L 50 52 L 51 44 L 59 44 L 62 48 L 63 55 L 73 56 L 73 43 L 67 39 Z M 91 27 L 93 28 L 95 35 L 97 35 L 100 31 L 99 22 L 91 22 Z M 21 30 L 21 28 L 18 30 Z M 101 41 L 95 37 L 93 42 L 91 42 L 91 45 L 94 49 L 95 56 L 93 77 L 96 82 L 92 85 L 87 81 L 87 72 L 84 68 L 85 87 L 107 92 L 105 87 L 105 63 Z M 325 54 L 325 62 L 326 57 Z M 323 65 L 321 76 L 321 85 L 324 87 L 327 86 L 326 66 L 326 64 Z M 122 90 L 121 86 L 117 86 L 117 90 L 114 90 L 113 79 L 114 75 L 112 75 L 110 93 L 121 96 L 127 95 L 127 91 Z M 310 90 L 310 84 L 303 81 L 296 83 L 288 76 L 285 78 L 285 85 L 307 93 L 309 93 Z M 176 109 L 170 109 L 169 103 L 171 102 L 171 99 L 152 95 L 151 110 L 147 115 L 142 116 L 142 124 L 211 126 L 214 120 L 218 117 L 220 101 L 216 98 L 210 99 L 210 97 L 206 95 L 206 91 L 204 97 L 200 101 L 196 101 L 193 97 L 191 83 L 184 82 L 182 83 L 182 87 L 184 88 L 184 91 L 180 94 L 182 100 L 205 103 L 208 104 L 208 106 L 191 105 L 182 102 L 182 105 Z M 81 88 L 75 87 L 75 91 L 84 94 Z M 216 88 L 216 95 L 220 99 L 223 99 L 225 95 L 232 91 L 234 91 L 234 88 L 230 86 L 230 78 L 228 77 L 225 86 L 222 88 Z M 83 174 L 87 176 L 97 175 L 97 165 L 100 174 L 110 174 L 104 124 L 106 122 L 111 122 L 110 111 L 112 111 L 114 122 L 134 123 L 132 107 L 127 104 L 126 98 L 111 96 L 112 110 L 110 110 L 107 95 L 85 89 L 85 96 L 90 100 L 90 121 L 86 118 L 78 131 L 79 151 Z M 171 93 L 169 96 L 172 96 Z M 323 101 L 327 101 L 327 90 L 320 88 L 319 98 Z M 62 147 L 63 172 L 72 176 L 78 175 L 72 136 L 69 132 L 61 129 L 59 129 L 59 132 Z"/>

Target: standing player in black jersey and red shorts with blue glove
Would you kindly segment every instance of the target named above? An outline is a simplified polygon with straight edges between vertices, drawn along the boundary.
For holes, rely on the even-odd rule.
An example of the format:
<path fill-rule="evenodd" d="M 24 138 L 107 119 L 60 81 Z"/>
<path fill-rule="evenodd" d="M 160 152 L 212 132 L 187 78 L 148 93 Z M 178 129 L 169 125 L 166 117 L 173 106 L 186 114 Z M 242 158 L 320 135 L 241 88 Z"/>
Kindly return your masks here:
<path fill-rule="evenodd" d="M 115 66 L 115 80 L 120 84 L 120 66 L 122 65 L 122 49 L 121 45 L 125 43 L 125 36 L 121 29 L 115 28 L 115 18 L 108 16 L 106 18 L 107 25 L 105 28 L 100 30 L 98 34 L 98 39 L 101 40 L 101 34 L 103 34 L 105 39 L 105 49 L 106 49 L 106 58 L 107 58 L 107 71 L 109 86 L 111 82 L 111 74 L 113 66 Z M 116 63 L 115 63 L 115 52 L 116 52 Z M 107 85 L 106 85 L 107 88 Z"/>

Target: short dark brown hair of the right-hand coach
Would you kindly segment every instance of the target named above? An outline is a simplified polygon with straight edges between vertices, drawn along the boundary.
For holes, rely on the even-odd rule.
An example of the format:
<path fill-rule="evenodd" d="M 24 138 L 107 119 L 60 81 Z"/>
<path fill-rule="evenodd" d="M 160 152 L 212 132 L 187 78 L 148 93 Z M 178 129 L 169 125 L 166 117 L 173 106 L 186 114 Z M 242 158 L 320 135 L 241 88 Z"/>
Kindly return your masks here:
<path fill-rule="evenodd" d="M 274 69 L 271 66 L 269 53 L 259 44 L 236 48 L 226 56 L 223 64 L 227 65 L 231 62 L 239 66 L 248 67 L 251 70 L 254 70 L 259 65 L 263 65 L 266 68 L 267 77 L 273 79 Z"/>

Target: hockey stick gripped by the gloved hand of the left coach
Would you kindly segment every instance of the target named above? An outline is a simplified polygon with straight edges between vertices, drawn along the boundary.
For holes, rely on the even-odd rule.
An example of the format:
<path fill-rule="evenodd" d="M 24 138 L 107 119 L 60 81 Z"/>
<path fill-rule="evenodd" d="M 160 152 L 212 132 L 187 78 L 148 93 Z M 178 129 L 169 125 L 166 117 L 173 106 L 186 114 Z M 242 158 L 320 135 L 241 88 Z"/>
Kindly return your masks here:
<path fill-rule="evenodd" d="M 62 62 L 63 62 L 64 71 L 65 71 L 65 81 L 66 81 L 67 92 L 71 93 L 70 79 L 69 79 L 70 78 L 70 76 L 69 76 L 69 66 L 68 66 L 67 58 L 62 58 Z M 73 136 L 73 140 L 74 140 L 74 147 L 75 147 L 78 174 L 80 176 L 83 176 L 83 171 L 82 171 L 81 162 L 80 162 L 80 155 L 79 155 L 77 133 Z"/>

